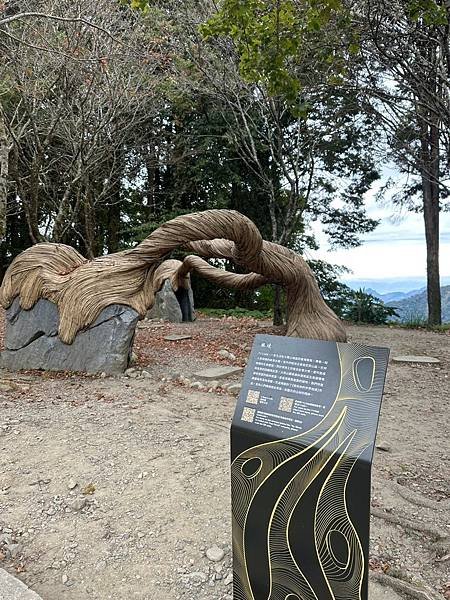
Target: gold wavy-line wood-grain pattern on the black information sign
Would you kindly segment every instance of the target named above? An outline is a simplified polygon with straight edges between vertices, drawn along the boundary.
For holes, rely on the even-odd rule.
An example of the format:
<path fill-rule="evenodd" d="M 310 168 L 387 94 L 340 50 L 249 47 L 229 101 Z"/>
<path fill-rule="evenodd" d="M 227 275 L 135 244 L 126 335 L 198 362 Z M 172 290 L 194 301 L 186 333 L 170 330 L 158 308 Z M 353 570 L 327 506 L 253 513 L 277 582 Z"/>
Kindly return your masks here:
<path fill-rule="evenodd" d="M 386 355 L 377 348 L 337 343 L 341 377 L 337 396 L 312 429 L 249 448 L 232 464 L 235 600 L 361 600 L 366 569 L 360 535 L 348 509 L 348 487 L 358 461 L 373 447 L 383 392 Z M 368 362 L 370 361 L 370 362 Z M 360 368 L 364 365 L 365 371 Z M 370 385 L 368 385 L 370 384 Z M 255 461 L 255 459 L 257 459 Z M 246 475 L 253 461 L 256 469 Z M 246 547 L 249 519 L 258 497 L 288 478 L 274 500 L 267 526 L 268 593 L 255 590 Z M 279 483 L 278 483 L 279 485 Z M 277 492 L 278 493 L 278 492 Z M 312 539 L 317 574 L 302 564 L 291 539 L 292 522 L 303 514 L 305 496 L 314 502 Z M 265 525 L 264 525 L 265 526 Z M 265 551 L 264 551 L 265 552 Z M 298 554 L 298 553 L 297 553 Z M 316 590 L 320 576 L 322 595 Z M 323 590 L 328 594 L 324 597 Z M 264 596 L 264 597 L 263 597 Z"/>

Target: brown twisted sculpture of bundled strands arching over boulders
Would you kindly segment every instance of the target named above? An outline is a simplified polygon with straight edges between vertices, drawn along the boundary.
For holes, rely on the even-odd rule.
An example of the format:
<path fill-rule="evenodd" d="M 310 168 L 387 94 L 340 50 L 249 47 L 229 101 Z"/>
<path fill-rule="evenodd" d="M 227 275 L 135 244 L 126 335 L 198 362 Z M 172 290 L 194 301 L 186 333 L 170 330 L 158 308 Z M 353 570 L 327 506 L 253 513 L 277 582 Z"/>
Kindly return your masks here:
<path fill-rule="evenodd" d="M 227 258 L 250 271 L 229 273 L 197 255 L 164 260 L 183 248 L 206 258 Z M 164 281 L 187 288 L 192 271 L 220 285 L 254 289 L 277 283 L 286 289 L 287 335 L 346 341 L 344 327 L 325 304 L 306 262 L 291 250 L 266 242 L 255 224 L 230 210 L 209 210 L 168 221 L 136 248 L 88 261 L 63 244 L 37 244 L 20 254 L 0 288 L 4 308 L 19 297 L 23 309 L 40 298 L 59 310 L 59 337 L 71 344 L 112 304 L 125 304 L 144 317 Z"/>

